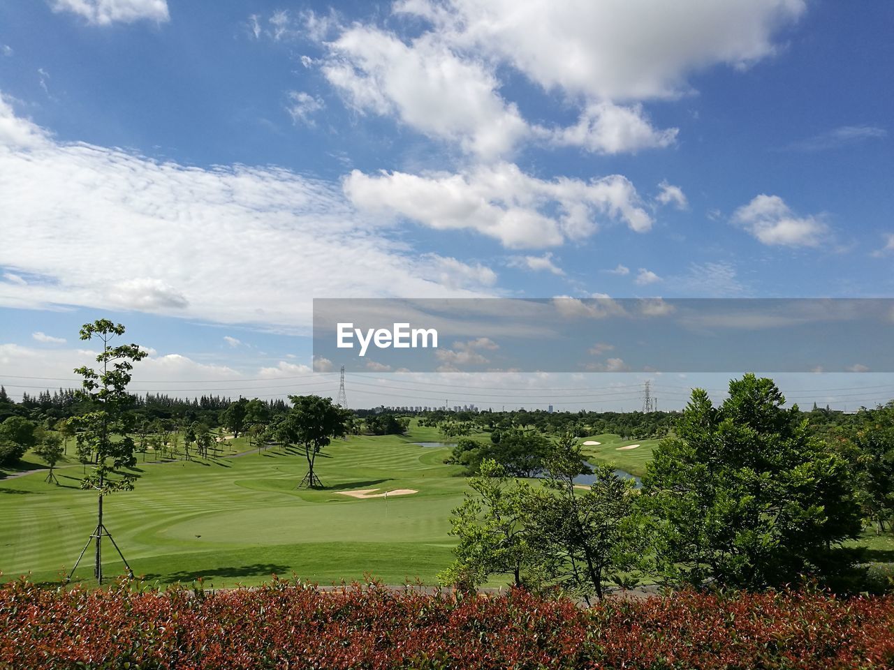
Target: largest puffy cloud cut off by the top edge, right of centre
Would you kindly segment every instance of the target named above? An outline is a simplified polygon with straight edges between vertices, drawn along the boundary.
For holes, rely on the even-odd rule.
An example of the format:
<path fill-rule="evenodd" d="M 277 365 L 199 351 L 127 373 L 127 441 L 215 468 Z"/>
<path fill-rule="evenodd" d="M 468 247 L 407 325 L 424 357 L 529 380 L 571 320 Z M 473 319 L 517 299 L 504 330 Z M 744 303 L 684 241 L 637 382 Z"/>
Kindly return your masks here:
<path fill-rule="evenodd" d="M 591 100 L 676 96 L 692 71 L 775 51 L 804 0 L 404 0 L 457 49 L 486 54 L 547 90 Z"/>

